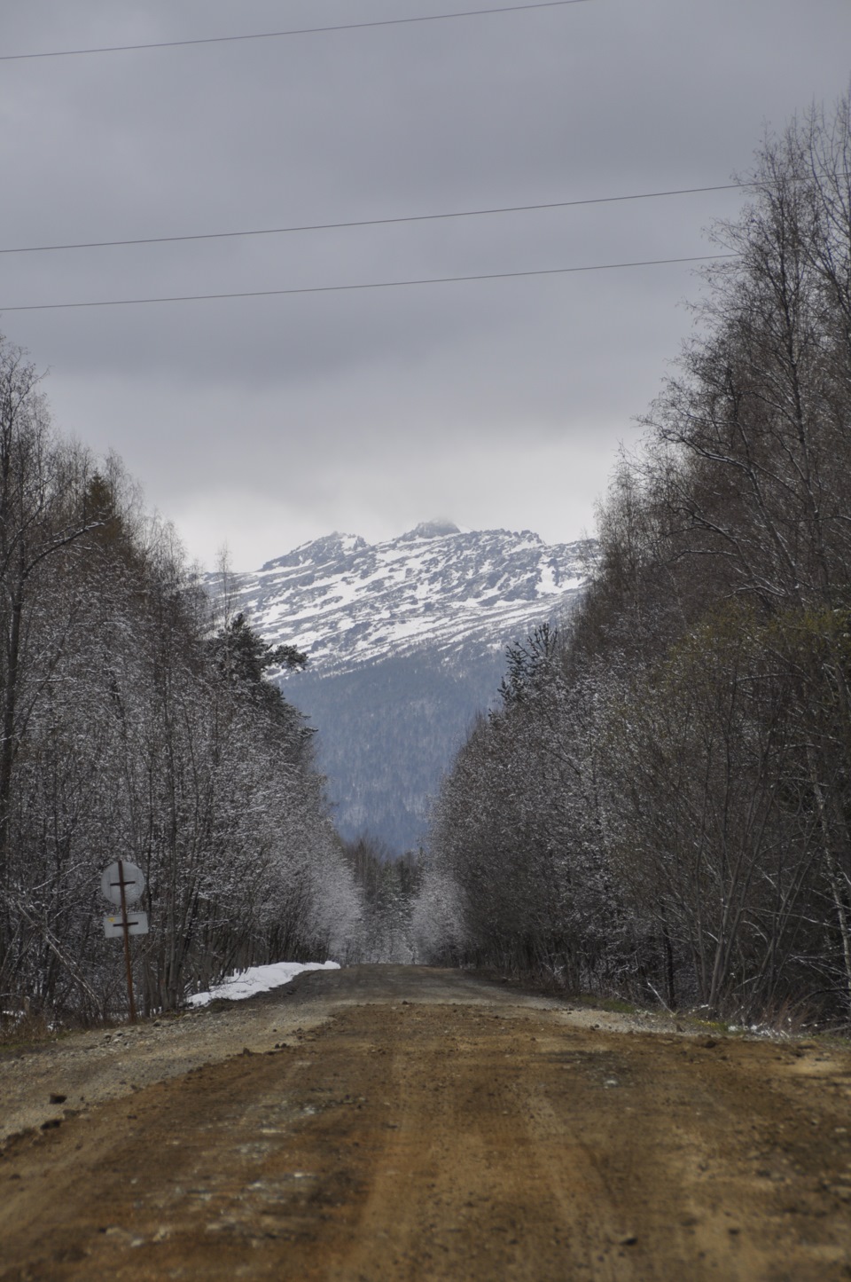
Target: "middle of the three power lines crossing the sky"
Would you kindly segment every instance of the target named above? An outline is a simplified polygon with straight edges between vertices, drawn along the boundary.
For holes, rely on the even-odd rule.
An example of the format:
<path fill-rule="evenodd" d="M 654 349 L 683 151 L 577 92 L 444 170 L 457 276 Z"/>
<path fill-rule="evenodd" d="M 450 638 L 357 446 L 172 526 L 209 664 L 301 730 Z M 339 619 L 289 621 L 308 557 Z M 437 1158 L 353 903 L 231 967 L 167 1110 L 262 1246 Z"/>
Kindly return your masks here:
<path fill-rule="evenodd" d="M 46 254 L 67 249 L 112 249 L 119 245 L 173 245 L 181 241 L 228 240 L 237 236 L 282 236 L 291 232 L 327 232 L 351 227 L 388 227 L 393 223 L 427 223 L 449 218 L 481 218 L 487 214 L 524 214 L 540 209 L 575 209 L 579 205 L 610 205 L 625 200 L 660 200 L 664 196 L 693 196 L 709 191 L 734 191 L 759 186 L 750 182 L 725 182 L 714 187 L 677 187 L 670 191 L 640 191 L 625 196 L 593 196 L 587 200 L 551 200 L 538 205 L 502 205 L 493 209 L 456 209 L 441 214 L 405 214 L 400 218 L 360 218 L 341 223 L 304 223 L 293 227 L 256 227 L 236 232 L 195 232 L 187 236 L 140 236 L 114 241 L 78 241 L 68 245 L 21 245 L 0 249 L 0 254 Z"/>

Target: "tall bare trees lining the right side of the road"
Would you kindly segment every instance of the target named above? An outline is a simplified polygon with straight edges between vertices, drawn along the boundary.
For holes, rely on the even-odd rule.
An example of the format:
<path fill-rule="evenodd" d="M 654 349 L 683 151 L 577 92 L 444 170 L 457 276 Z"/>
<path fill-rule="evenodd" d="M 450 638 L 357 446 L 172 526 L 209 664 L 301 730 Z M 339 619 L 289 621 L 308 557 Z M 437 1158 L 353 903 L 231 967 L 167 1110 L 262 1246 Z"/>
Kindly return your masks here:
<path fill-rule="evenodd" d="M 851 122 L 757 153 L 560 637 L 440 795 L 422 947 L 851 1014 Z M 441 915 L 442 914 L 442 915 Z"/>

